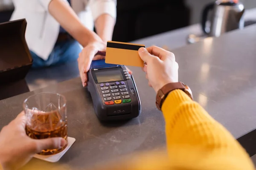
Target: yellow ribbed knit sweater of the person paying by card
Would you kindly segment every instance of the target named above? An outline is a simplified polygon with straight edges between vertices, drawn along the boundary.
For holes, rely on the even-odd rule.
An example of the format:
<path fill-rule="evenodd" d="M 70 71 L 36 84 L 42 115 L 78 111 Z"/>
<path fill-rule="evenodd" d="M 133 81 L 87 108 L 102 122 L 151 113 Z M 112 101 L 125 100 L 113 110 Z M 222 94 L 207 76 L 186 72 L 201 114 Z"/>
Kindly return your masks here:
<path fill-rule="evenodd" d="M 254 170 L 236 139 L 183 91 L 172 91 L 162 111 L 168 156 L 135 154 L 98 170 Z"/>

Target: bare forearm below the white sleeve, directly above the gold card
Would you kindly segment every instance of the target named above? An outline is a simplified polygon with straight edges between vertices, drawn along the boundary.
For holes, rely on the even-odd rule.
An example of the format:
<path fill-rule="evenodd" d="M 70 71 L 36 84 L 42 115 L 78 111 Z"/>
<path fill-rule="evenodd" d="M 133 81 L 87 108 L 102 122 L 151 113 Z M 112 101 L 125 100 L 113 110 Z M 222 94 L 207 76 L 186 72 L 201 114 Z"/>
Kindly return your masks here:
<path fill-rule="evenodd" d="M 116 20 L 109 14 L 100 15 L 95 21 L 96 32 L 104 41 L 111 41 Z"/>

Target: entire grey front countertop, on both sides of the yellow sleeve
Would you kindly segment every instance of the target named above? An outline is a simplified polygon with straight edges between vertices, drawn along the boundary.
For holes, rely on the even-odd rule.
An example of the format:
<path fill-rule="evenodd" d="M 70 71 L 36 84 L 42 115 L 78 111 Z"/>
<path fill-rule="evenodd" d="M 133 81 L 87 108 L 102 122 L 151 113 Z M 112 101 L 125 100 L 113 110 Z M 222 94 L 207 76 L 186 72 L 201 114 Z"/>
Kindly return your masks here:
<path fill-rule="evenodd" d="M 256 153 L 255 47 L 256 25 L 173 51 L 180 66 L 180 81 L 192 88 L 195 101 L 236 139 L 241 139 L 239 142 L 251 156 Z M 76 63 L 73 66 L 76 67 Z M 135 67 L 131 69 L 142 102 L 142 113 L 136 119 L 116 125 L 101 124 L 87 89 L 82 88 L 80 79 L 76 78 L 1 100 L 0 128 L 22 110 L 26 97 L 39 92 L 54 92 L 67 98 L 68 134 L 76 138 L 60 164 L 87 167 L 136 151 L 164 148 L 165 123 L 155 107 L 155 93 L 148 87 L 143 71 Z M 46 162 L 33 159 L 29 165 L 32 164 L 44 165 Z"/>

